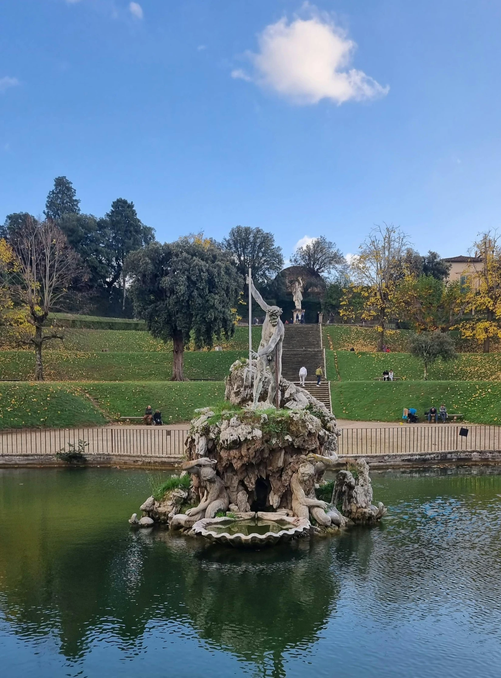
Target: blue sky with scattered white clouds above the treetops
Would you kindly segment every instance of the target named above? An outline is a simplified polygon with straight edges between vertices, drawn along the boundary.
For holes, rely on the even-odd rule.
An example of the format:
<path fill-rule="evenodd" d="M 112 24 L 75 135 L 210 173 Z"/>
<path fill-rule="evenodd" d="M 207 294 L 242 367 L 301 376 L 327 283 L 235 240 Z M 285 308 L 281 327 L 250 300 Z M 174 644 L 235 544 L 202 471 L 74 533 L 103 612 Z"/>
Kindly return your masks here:
<path fill-rule="evenodd" d="M 491 0 L 1 0 L 0 222 L 64 175 L 160 241 L 466 254 L 501 225 L 500 33 Z"/>

